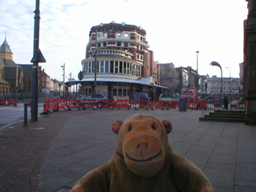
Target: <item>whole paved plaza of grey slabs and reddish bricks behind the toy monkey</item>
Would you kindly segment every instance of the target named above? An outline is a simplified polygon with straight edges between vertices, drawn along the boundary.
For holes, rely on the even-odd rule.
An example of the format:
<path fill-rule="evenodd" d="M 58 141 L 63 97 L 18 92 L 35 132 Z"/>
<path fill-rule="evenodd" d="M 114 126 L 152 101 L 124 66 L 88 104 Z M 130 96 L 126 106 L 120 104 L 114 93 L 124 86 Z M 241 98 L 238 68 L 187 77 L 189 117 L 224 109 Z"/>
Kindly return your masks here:
<path fill-rule="evenodd" d="M 200 110 L 71 110 L 0 131 L 0 192 L 69 191 L 114 152 L 116 120 L 154 114 L 173 125 L 170 145 L 210 178 L 215 191 L 256 191 L 256 126 L 199 122 Z"/>

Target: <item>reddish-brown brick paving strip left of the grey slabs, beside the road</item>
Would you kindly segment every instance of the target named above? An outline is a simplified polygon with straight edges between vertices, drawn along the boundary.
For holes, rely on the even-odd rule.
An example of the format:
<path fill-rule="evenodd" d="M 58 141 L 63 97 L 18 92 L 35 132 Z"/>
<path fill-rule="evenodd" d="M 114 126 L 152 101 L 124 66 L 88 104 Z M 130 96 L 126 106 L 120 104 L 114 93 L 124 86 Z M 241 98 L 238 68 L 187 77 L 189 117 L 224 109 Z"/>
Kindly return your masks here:
<path fill-rule="evenodd" d="M 19 122 L 0 131 L 0 191 L 38 189 L 38 172 L 47 150 L 69 119 L 66 112 L 42 115 L 38 122 Z"/>

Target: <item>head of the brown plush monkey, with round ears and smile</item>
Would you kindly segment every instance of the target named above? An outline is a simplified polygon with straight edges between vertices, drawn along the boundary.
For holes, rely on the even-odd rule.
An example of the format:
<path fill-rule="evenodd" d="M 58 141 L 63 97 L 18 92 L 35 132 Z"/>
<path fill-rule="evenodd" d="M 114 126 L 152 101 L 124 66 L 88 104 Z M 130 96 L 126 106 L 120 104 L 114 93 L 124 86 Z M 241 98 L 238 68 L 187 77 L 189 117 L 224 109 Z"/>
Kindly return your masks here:
<path fill-rule="evenodd" d="M 125 122 L 114 122 L 112 130 L 118 134 L 116 150 L 134 174 L 142 177 L 158 174 L 165 162 L 167 134 L 172 130 L 169 121 L 136 114 Z"/>

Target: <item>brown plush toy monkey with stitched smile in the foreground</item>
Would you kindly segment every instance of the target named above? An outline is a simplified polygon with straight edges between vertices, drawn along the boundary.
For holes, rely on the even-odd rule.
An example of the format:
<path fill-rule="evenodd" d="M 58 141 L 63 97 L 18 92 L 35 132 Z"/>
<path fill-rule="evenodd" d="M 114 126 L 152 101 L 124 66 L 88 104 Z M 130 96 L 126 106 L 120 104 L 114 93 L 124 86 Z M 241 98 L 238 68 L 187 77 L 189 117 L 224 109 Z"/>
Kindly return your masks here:
<path fill-rule="evenodd" d="M 135 114 L 113 123 L 118 134 L 114 155 L 82 177 L 71 192 L 214 192 L 192 162 L 175 154 L 168 143 L 169 121 Z"/>

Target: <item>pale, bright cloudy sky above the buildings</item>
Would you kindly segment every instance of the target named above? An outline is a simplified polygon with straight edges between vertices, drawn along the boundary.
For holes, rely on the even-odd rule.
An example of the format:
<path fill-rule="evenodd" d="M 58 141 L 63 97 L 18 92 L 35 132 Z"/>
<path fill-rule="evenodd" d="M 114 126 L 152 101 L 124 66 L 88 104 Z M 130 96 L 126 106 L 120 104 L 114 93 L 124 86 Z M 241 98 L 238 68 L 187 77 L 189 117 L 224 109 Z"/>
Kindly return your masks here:
<path fill-rule="evenodd" d="M 0 0 L 0 45 L 5 37 L 14 62 L 32 64 L 36 0 Z M 92 26 L 125 22 L 142 26 L 154 61 L 192 66 L 198 74 L 238 78 L 243 62 L 246 0 L 44 0 L 40 1 L 40 42 L 50 78 L 78 79 Z"/>

